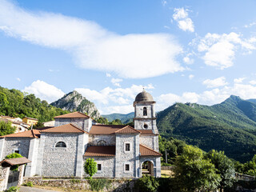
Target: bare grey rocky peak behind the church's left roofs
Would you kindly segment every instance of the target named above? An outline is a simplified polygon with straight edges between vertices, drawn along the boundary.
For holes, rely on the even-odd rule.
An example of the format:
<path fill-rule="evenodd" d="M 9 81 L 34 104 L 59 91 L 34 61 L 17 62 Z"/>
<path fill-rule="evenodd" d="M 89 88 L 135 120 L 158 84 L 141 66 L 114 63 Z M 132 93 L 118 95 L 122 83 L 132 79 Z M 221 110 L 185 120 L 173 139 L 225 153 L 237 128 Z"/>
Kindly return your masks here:
<path fill-rule="evenodd" d="M 59 107 L 62 110 L 77 110 L 95 119 L 100 117 L 94 103 L 82 97 L 82 94 L 79 94 L 76 90 L 65 94 L 62 98 L 58 99 L 58 101 L 50 103 L 50 105 Z"/>

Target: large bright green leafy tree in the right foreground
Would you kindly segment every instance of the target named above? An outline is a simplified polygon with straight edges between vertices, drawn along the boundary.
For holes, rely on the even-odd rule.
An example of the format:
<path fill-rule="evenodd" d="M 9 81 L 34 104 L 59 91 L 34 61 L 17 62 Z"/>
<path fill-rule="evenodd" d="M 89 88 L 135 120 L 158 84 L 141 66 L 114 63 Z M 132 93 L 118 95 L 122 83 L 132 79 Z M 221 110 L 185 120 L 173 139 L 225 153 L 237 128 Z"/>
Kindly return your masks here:
<path fill-rule="evenodd" d="M 198 147 L 185 146 L 174 162 L 174 181 L 179 191 L 214 190 L 220 180 L 214 164 L 203 158 Z"/>

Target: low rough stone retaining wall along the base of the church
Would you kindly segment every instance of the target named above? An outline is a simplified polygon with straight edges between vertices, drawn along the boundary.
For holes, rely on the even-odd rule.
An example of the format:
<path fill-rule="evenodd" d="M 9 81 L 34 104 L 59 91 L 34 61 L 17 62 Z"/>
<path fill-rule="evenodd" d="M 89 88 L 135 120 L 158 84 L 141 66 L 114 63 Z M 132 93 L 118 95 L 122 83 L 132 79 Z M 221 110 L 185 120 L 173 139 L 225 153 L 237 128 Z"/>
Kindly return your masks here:
<path fill-rule="evenodd" d="M 110 179 L 111 184 L 104 192 L 133 191 L 135 179 Z M 42 177 L 24 178 L 23 183 L 33 182 L 37 186 L 62 187 L 73 190 L 90 190 L 88 179 L 46 179 Z"/>

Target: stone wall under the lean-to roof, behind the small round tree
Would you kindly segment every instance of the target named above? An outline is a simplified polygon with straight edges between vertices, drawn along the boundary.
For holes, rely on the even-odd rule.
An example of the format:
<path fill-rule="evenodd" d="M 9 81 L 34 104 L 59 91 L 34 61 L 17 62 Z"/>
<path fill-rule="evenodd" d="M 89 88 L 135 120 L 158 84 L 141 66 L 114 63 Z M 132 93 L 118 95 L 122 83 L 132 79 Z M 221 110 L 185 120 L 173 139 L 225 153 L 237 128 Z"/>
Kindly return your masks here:
<path fill-rule="evenodd" d="M 86 159 L 85 159 L 86 161 Z M 115 158 L 108 157 L 94 157 L 94 161 L 102 164 L 102 171 L 94 174 L 93 178 L 114 178 L 115 173 Z M 89 175 L 85 175 L 88 177 Z"/>

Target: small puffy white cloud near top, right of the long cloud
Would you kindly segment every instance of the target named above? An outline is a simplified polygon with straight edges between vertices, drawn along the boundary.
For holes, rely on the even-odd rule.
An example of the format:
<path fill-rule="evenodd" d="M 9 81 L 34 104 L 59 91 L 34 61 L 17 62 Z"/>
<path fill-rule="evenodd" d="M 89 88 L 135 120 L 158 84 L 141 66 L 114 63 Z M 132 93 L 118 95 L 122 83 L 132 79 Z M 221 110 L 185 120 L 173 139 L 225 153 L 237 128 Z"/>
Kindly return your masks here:
<path fill-rule="evenodd" d="M 188 17 L 188 10 L 184 10 L 184 8 L 175 8 L 173 18 L 176 22 L 178 22 L 178 27 L 181 30 L 188 30 L 190 32 L 194 32 L 194 24 L 191 18 Z"/>

